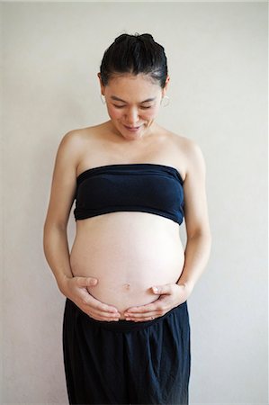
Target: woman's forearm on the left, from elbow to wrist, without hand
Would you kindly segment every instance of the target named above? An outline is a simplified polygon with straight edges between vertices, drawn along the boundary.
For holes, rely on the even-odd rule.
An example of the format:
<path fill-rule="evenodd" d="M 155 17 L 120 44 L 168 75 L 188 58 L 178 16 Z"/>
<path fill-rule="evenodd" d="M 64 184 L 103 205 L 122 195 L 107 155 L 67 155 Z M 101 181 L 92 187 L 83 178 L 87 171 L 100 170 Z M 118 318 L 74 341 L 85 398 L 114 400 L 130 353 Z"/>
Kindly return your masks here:
<path fill-rule="evenodd" d="M 58 289 L 63 293 L 65 280 L 73 277 L 66 229 L 45 224 L 43 247 L 49 267 L 56 278 Z"/>

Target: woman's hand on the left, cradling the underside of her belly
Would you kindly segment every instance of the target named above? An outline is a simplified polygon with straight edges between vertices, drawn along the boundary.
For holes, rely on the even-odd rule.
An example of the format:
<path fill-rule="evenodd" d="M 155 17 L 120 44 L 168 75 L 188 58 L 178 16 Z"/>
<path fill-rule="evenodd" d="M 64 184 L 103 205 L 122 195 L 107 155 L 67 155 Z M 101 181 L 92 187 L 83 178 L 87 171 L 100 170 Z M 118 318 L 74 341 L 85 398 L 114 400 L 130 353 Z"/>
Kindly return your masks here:
<path fill-rule="evenodd" d="M 120 312 L 112 305 L 96 300 L 87 287 L 93 287 L 98 280 L 93 277 L 66 277 L 59 289 L 69 300 L 75 302 L 76 306 L 84 311 L 94 320 L 119 320 Z"/>

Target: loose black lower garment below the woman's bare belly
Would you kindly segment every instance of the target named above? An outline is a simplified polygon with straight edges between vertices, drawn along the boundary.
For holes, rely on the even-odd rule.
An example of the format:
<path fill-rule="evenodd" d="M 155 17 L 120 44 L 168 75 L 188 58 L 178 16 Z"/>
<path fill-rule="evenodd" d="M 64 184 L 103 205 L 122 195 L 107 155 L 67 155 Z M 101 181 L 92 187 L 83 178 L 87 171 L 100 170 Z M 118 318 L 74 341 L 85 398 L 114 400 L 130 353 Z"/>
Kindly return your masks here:
<path fill-rule="evenodd" d="M 188 404 L 187 302 L 156 320 L 108 322 L 67 299 L 63 350 L 70 404 Z"/>

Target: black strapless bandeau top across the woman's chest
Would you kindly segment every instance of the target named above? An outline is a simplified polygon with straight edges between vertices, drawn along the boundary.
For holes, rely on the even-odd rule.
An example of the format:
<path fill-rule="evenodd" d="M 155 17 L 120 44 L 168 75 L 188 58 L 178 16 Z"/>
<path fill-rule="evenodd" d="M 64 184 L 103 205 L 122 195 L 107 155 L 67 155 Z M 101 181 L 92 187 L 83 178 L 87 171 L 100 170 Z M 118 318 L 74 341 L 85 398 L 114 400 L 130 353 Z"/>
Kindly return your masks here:
<path fill-rule="evenodd" d="M 97 166 L 76 178 L 76 220 L 113 211 L 141 211 L 181 224 L 184 181 L 172 166 L 130 163 Z"/>

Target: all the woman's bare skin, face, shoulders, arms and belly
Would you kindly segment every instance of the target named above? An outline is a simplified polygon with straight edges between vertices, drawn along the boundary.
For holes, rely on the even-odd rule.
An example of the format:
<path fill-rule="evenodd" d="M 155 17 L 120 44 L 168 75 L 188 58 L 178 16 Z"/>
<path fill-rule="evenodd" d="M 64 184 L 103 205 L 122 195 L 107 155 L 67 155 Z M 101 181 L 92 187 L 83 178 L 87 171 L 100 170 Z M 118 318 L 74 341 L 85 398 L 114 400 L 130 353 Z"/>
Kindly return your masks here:
<path fill-rule="evenodd" d="M 157 125 L 158 86 L 143 77 L 112 82 L 101 86 L 111 120 L 70 131 L 59 145 L 44 250 L 59 290 L 95 320 L 152 320 L 186 301 L 209 256 L 204 162 L 192 140 Z M 115 93 L 124 101 L 116 103 L 119 110 L 110 103 Z M 153 94 L 151 112 L 131 103 L 136 94 L 141 101 Z M 125 130 L 125 124 L 140 126 L 139 132 Z M 118 211 L 77 220 L 69 253 L 67 220 L 76 176 L 96 166 L 147 162 L 173 166 L 184 179 L 185 250 L 175 221 Z"/>

